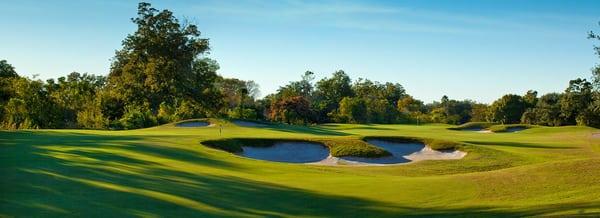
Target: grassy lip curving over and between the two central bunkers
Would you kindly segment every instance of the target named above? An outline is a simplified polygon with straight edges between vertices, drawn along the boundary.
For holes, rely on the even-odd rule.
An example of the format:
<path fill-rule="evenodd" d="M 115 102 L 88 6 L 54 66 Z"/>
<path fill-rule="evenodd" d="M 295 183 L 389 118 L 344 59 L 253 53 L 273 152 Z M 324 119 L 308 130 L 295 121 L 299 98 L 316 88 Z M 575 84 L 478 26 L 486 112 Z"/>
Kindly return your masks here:
<path fill-rule="evenodd" d="M 334 157 L 384 157 L 390 153 L 382 148 L 371 145 L 359 139 L 262 139 L 262 138 L 231 138 L 207 140 L 202 144 L 228 152 L 242 152 L 242 146 L 270 147 L 278 142 L 308 142 L 322 144 L 329 148 Z"/>

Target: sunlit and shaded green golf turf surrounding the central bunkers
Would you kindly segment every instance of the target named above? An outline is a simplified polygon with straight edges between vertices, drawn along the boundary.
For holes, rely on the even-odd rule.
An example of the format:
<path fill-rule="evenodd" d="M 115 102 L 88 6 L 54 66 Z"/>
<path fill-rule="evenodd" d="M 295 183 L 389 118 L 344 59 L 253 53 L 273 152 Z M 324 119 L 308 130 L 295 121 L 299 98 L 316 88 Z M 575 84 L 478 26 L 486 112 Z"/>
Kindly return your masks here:
<path fill-rule="evenodd" d="M 211 121 L 214 123 L 214 121 Z M 0 216 L 395 217 L 600 215 L 600 138 L 587 127 L 515 133 L 447 125 L 269 125 L 0 132 Z M 461 160 L 386 167 L 253 160 L 223 138 L 458 142 Z M 464 144 L 464 145 L 462 145 Z"/>

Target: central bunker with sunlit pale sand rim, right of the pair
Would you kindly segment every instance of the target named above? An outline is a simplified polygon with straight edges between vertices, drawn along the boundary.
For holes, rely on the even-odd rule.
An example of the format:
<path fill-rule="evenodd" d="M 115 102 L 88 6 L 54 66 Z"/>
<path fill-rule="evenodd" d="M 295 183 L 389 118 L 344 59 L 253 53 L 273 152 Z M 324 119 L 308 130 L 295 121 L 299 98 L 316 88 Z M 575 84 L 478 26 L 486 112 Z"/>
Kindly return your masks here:
<path fill-rule="evenodd" d="M 467 153 L 458 150 L 436 151 L 422 143 L 398 143 L 383 140 L 369 140 L 368 142 L 389 151 L 392 153 L 392 156 L 363 158 L 333 157 L 330 155 L 325 160 L 313 164 L 385 166 L 390 164 L 402 164 L 422 160 L 461 159 L 467 155 Z"/>

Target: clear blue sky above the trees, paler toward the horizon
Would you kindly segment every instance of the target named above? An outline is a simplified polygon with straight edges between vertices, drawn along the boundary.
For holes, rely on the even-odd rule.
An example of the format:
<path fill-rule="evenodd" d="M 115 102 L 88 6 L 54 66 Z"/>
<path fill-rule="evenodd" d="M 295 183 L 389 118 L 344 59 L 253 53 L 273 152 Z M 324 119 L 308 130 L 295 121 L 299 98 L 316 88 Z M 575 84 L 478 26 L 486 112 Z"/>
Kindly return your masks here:
<path fill-rule="evenodd" d="M 560 92 L 598 58 L 600 1 L 149 1 L 196 23 L 226 77 L 263 95 L 311 70 L 402 84 L 426 102 Z M 0 59 L 21 75 L 108 73 L 136 1 L 0 0 Z"/>

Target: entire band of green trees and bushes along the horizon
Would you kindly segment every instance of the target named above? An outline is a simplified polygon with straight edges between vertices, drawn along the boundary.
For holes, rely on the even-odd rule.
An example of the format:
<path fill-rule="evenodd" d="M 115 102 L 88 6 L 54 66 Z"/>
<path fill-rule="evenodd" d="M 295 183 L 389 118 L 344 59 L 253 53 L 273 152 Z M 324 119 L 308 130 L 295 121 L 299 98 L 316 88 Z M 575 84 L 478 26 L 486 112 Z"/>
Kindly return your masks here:
<path fill-rule="evenodd" d="M 343 70 L 298 81 L 264 98 L 253 81 L 224 78 L 206 57 L 209 40 L 171 11 L 140 3 L 137 30 L 115 52 L 108 76 L 73 72 L 41 81 L 0 61 L 0 126 L 4 129 L 136 129 L 191 118 L 220 117 L 288 124 L 447 123 L 471 121 L 600 127 L 600 65 L 590 80 L 562 93 L 507 94 L 491 104 L 443 96 L 425 104 L 402 85 L 351 79 Z M 600 40 L 590 32 L 588 38 Z M 600 57 L 600 47 L 594 47 Z"/>

